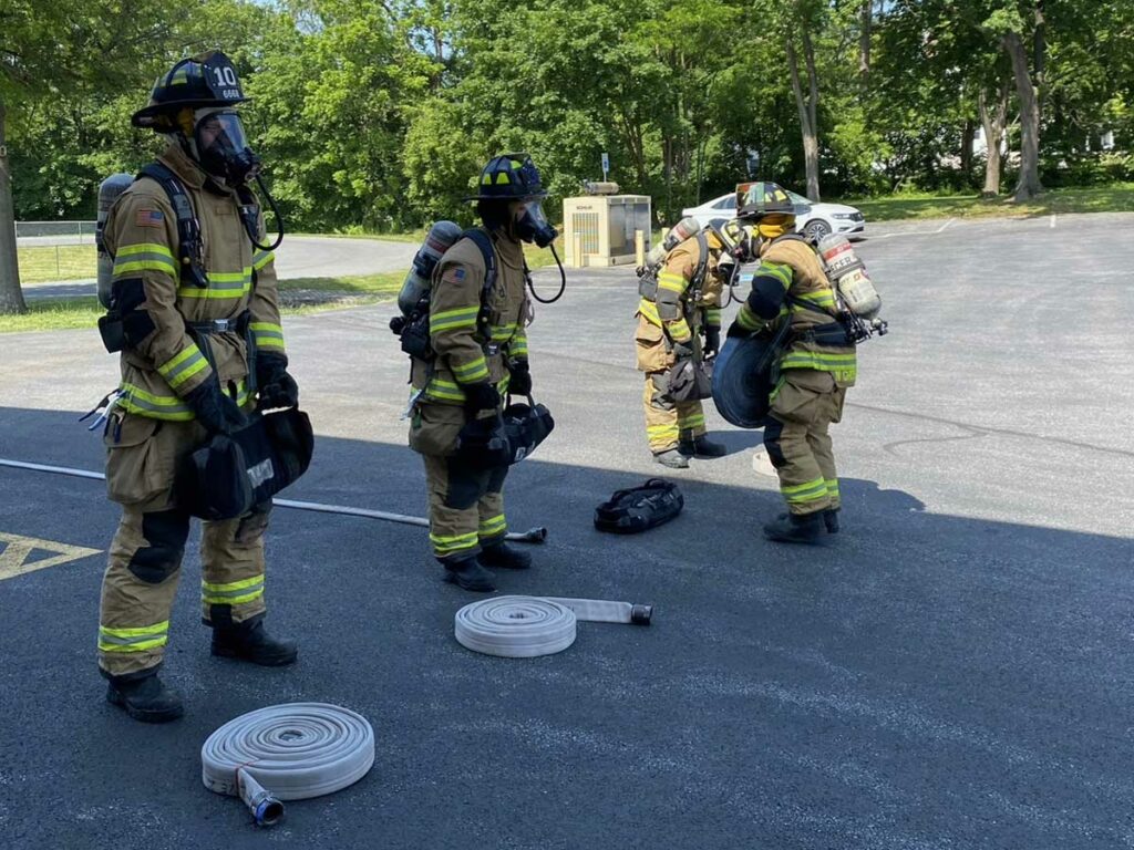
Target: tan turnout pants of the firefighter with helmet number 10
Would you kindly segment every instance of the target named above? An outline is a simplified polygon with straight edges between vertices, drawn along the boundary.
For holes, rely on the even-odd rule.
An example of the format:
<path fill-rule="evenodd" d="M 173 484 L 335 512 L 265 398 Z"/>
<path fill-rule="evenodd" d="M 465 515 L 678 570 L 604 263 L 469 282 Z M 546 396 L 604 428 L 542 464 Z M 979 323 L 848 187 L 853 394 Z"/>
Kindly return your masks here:
<path fill-rule="evenodd" d="M 122 504 L 102 579 L 99 666 L 134 678 L 161 664 L 180 580 L 189 515 L 174 504 L 178 461 L 205 440 L 194 422 L 127 415 L 107 430 L 107 487 Z M 264 532 L 271 502 L 238 519 L 204 522 L 201 607 L 209 626 L 264 613 Z"/>

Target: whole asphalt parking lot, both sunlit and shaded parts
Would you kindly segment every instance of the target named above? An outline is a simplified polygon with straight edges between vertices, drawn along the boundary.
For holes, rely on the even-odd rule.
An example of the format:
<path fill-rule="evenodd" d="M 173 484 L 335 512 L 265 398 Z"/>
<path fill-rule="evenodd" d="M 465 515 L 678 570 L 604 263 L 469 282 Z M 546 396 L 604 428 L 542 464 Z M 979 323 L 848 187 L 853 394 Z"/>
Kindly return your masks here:
<path fill-rule="evenodd" d="M 655 605 L 649 628 L 582 623 L 559 655 L 460 647 L 473 597 L 423 529 L 279 509 L 269 623 L 299 663 L 209 656 L 191 544 L 166 664 L 187 714 L 134 723 L 94 663 L 115 505 L 98 482 L 0 468 L 0 845 L 1134 847 L 1134 214 L 872 230 L 891 333 L 860 349 L 832 431 L 844 530 L 821 547 L 762 539 L 779 496 L 760 433 L 711 409 L 730 454 L 666 476 L 683 516 L 595 532 L 599 502 L 660 471 L 633 273 L 569 270 L 539 308 L 557 428 L 506 493 L 514 529 L 550 534 L 501 592 Z M 392 309 L 287 324 L 319 434 L 287 496 L 424 512 Z M 0 458 L 100 469 L 76 422 L 117 381 L 98 334 L 0 335 Z M 257 832 L 204 789 L 200 748 L 298 700 L 364 714 L 378 758 Z"/>

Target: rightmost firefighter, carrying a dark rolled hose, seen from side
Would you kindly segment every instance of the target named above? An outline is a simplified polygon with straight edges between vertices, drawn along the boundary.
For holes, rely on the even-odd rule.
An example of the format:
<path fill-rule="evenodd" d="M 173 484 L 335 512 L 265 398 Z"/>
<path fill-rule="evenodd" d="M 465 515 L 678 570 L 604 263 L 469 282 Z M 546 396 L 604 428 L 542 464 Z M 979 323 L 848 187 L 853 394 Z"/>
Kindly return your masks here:
<path fill-rule="evenodd" d="M 846 388 L 855 382 L 854 342 L 838 321 L 836 294 L 818 253 L 795 233 L 794 207 L 784 189 L 742 184 L 737 214 L 759 237 L 760 265 L 728 335 L 790 323 L 764 425 L 764 447 L 787 512 L 768 522 L 764 535 L 811 542 L 839 528 L 839 481 L 828 428 L 841 418 Z"/>

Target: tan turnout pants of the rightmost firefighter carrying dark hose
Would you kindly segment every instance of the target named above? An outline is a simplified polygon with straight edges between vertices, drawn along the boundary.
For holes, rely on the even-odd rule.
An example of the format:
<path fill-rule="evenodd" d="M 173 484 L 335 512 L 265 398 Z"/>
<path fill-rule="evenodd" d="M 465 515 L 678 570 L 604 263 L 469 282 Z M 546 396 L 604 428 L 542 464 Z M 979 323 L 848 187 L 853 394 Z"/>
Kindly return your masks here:
<path fill-rule="evenodd" d="M 839 479 L 828 427 L 843 418 L 846 389 L 826 372 L 788 369 L 764 426 L 764 448 L 788 511 L 838 509 Z"/>

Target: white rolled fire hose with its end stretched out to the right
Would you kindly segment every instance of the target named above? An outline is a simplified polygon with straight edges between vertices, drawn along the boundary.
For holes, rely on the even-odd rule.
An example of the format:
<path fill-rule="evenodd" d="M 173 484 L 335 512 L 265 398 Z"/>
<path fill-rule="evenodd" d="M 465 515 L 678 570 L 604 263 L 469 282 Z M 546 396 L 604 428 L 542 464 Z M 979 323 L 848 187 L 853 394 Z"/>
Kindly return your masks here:
<path fill-rule="evenodd" d="M 649 626 L 652 605 L 559 596 L 494 596 L 457 612 L 457 643 L 485 655 L 532 658 L 562 652 L 575 643 L 575 624 L 619 622 Z"/>

